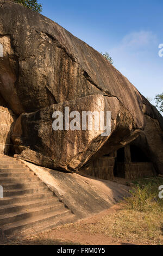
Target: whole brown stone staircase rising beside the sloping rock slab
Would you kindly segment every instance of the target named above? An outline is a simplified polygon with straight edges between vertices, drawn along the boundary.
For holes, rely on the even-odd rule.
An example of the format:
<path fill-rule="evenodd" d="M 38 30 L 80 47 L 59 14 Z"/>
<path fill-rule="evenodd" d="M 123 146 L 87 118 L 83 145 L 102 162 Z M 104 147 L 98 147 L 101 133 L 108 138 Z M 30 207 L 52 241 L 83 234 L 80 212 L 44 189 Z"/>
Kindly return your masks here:
<path fill-rule="evenodd" d="M 76 220 L 20 160 L 0 155 L 0 185 L 0 230 L 5 236 L 27 237 Z"/>

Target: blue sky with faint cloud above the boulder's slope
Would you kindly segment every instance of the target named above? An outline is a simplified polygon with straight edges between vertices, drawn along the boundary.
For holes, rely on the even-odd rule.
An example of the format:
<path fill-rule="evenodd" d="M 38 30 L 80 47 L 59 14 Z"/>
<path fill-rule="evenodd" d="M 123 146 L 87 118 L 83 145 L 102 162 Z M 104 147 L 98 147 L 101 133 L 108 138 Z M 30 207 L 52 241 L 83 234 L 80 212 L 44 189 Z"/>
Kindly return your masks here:
<path fill-rule="evenodd" d="M 99 52 L 146 97 L 163 92 L 162 0 L 40 0 L 43 15 Z M 154 103 L 154 101 L 152 102 Z"/>

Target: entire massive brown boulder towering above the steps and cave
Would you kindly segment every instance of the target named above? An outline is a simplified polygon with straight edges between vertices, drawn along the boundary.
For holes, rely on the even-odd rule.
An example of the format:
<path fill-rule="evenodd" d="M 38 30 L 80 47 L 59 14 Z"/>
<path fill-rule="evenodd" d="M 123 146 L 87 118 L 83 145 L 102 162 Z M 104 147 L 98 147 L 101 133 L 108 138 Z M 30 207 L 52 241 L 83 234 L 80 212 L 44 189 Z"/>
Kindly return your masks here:
<path fill-rule="evenodd" d="M 99 52 L 57 23 L 9 1 L 1 4 L 0 34 L 0 95 L 18 117 L 12 140 L 19 157 L 76 170 L 142 135 L 141 147 L 162 173 L 161 115 Z M 80 114 L 111 111 L 110 135 L 54 131 L 52 114 L 65 106 Z"/>

